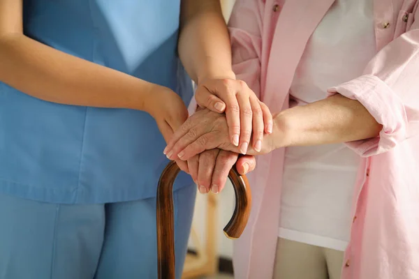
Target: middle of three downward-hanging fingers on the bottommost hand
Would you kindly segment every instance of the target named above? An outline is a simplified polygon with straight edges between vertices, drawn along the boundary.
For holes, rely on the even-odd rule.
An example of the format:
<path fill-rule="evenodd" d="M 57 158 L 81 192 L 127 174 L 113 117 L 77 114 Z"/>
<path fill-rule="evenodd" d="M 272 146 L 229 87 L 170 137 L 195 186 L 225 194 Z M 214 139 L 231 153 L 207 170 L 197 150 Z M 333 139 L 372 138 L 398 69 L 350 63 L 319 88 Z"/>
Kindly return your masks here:
<path fill-rule="evenodd" d="M 201 194 L 208 193 L 211 186 L 212 171 L 214 170 L 216 156 L 220 149 L 203 152 L 199 156 L 198 190 Z"/>

